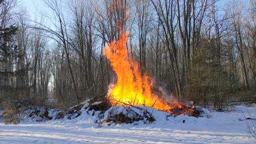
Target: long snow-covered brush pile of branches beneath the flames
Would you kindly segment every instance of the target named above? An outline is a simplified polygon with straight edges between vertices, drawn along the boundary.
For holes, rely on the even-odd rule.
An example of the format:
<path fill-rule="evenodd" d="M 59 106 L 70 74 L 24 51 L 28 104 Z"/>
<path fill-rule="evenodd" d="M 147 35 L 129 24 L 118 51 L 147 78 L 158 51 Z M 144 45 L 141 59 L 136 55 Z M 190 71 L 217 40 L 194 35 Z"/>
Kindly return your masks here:
<path fill-rule="evenodd" d="M 15 107 L 5 109 L 0 118 L 8 119 L 9 123 L 27 123 L 27 122 L 45 122 L 45 121 L 69 121 L 70 119 L 90 118 L 91 121 L 98 125 L 113 124 L 149 124 L 157 121 L 159 115 L 164 115 L 166 120 L 170 117 L 176 117 L 183 113 L 182 108 L 174 108 L 175 114 L 165 111 L 158 111 L 153 107 L 146 106 L 117 106 L 112 107 L 107 94 L 84 101 L 79 105 L 68 108 L 67 110 L 50 109 L 47 107 L 36 107 L 15 103 Z M 195 107 L 192 114 L 187 116 L 193 117 L 211 117 L 211 112 L 201 107 Z M 58 120 L 59 119 L 59 120 Z M 161 120 L 162 121 L 162 120 Z"/>

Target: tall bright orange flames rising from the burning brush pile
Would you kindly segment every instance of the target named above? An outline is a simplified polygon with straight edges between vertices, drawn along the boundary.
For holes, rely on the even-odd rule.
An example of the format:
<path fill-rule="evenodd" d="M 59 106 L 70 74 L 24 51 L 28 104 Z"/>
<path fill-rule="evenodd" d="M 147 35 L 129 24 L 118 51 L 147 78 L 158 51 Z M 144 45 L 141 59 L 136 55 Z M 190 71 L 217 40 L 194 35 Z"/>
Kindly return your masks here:
<path fill-rule="evenodd" d="M 119 1 L 116 1 L 110 6 L 113 9 Z M 124 9 L 124 7 L 123 7 Z M 116 27 L 119 29 L 119 20 Z M 158 110 L 175 113 L 173 110 L 180 109 L 181 114 L 189 114 L 193 108 L 188 108 L 181 105 L 178 101 L 167 103 L 163 98 L 158 98 L 151 91 L 153 80 L 147 73 L 141 73 L 138 62 L 129 57 L 126 42 L 128 34 L 122 29 L 119 30 L 121 38 L 118 41 L 113 41 L 109 46 L 105 47 L 104 54 L 110 60 L 110 65 L 113 67 L 117 75 L 116 84 L 110 88 L 108 95 L 111 97 L 112 105 L 144 105 L 154 107 Z"/>

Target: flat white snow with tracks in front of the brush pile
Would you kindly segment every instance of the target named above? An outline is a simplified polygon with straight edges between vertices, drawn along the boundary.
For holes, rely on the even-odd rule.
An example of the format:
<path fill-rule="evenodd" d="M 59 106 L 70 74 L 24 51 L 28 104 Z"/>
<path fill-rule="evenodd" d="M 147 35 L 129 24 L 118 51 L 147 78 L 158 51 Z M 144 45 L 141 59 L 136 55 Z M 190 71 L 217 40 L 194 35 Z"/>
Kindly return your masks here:
<path fill-rule="evenodd" d="M 228 113 L 213 111 L 211 118 L 167 120 L 164 112 L 154 111 L 156 122 L 138 125 L 97 125 L 89 115 L 64 121 L 0 123 L 0 143 L 251 143 L 244 119 L 249 116 L 247 110 L 256 117 L 255 109 L 241 106 Z"/>

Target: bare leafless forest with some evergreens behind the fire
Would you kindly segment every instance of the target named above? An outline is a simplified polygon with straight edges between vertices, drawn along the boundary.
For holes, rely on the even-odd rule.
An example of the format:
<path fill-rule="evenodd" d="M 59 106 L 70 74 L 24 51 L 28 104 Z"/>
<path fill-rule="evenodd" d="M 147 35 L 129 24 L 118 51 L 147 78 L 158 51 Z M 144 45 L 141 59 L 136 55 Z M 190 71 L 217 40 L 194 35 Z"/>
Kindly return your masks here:
<path fill-rule="evenodd" d="M 119 39 L 119 19 L 130 57 L 178 100 L 221 109 L 256 90 L 256 1 L 119 0 L 111 10 L 114 0 L 42 1 L 36 18 L 0 1 L 0 101 L 107 93 L 117 77 L 103 49 Z"/>

